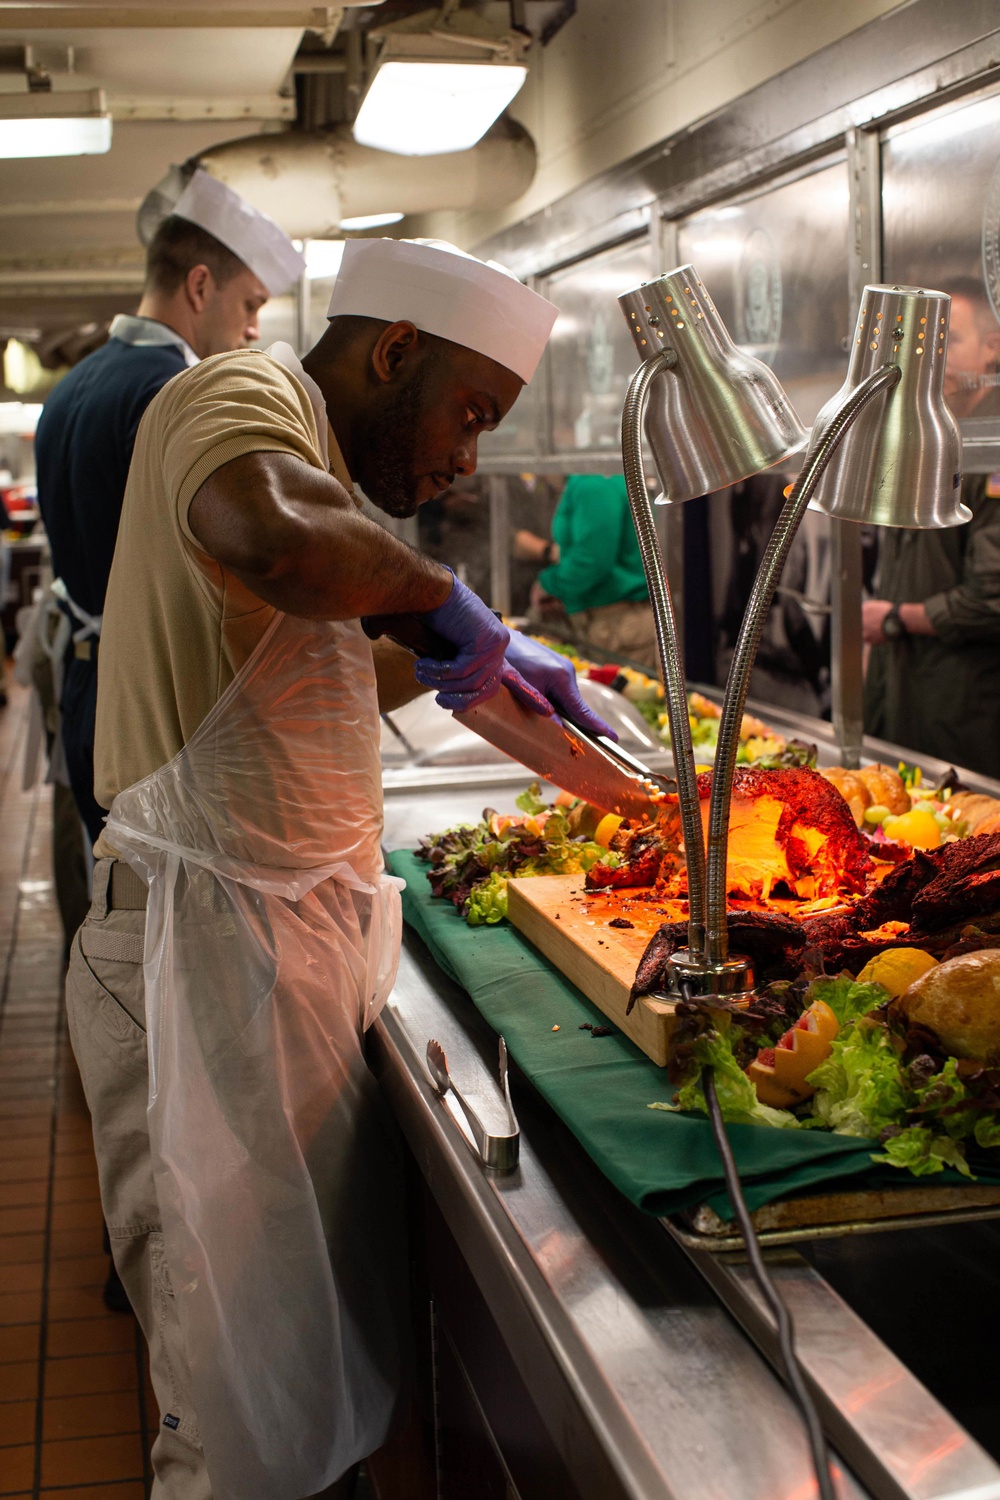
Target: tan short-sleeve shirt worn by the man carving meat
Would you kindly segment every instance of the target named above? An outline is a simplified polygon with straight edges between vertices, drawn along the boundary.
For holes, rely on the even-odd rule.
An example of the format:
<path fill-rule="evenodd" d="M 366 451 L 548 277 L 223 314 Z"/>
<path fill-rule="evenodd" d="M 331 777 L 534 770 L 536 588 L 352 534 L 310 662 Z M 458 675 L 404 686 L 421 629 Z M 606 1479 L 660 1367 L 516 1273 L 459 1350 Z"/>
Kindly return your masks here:
<path fill-rule="evenodd" d="M 333 432 L 330 471 L 351 489 Z M 306 387 L 258 350 L 216 354 L 150 402 L 135 441 L 105 600 L 94 795 L 166 765 L 252 654 L 274 616 L 208 556 L 187 520 L 214 470 L 244 453 L 291 453 L 325 471 Z M 97 844 L 97 854 L 109 848 Z"/>

